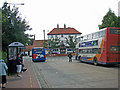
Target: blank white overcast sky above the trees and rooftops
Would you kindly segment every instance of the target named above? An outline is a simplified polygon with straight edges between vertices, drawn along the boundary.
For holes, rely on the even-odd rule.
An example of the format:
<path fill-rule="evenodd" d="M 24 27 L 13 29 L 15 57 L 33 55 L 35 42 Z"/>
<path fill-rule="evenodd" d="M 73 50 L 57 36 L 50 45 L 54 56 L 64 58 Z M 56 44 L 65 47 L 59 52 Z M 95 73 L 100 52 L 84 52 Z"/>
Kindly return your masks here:
<path fill-rule="evenodd" d="M 36 40 L 43 40 L 45 30 L 47 33 L 59 24 L 60 28 L 73 27 L 82 35 L 98 31 L 98 25 L 102 23 L 103 16 L 109 8 L 118 16 L 119 0 L 0 0 L 3 2 L 24 3 L 16 5 L 26 18 L 32 30 L 29 34 L 36 34 Z"/>

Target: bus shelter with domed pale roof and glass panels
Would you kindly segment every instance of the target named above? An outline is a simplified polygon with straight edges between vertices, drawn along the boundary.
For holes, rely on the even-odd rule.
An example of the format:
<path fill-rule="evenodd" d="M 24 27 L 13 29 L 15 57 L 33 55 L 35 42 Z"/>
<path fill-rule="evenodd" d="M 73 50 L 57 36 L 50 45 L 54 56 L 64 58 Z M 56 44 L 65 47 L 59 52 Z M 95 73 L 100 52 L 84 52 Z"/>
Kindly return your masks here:
<path fill-rule="evenodd" d="M 25 48 L 24 45 L 20 42 L 13 42 L 8 45 L 7 50 L 8 75 L 16 73 L 17 68 L 14 57 L 16 57 L 17 53 L 21 53 L 24 48 Z"/>

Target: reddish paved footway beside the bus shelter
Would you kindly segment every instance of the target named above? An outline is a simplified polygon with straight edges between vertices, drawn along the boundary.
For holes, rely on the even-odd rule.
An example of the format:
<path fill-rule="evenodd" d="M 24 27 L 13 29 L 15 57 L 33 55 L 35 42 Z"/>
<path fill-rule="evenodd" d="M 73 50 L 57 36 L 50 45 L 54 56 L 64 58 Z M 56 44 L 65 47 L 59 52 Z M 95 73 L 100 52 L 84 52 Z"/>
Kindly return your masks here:
<path fill-rule="evenodd" d="M 6 88 L 40 88 L 34 75 L 31 59 L 24 57 L 26 72 L 22 73 L 22 78 L 17 75 L 7 76 Z"/>

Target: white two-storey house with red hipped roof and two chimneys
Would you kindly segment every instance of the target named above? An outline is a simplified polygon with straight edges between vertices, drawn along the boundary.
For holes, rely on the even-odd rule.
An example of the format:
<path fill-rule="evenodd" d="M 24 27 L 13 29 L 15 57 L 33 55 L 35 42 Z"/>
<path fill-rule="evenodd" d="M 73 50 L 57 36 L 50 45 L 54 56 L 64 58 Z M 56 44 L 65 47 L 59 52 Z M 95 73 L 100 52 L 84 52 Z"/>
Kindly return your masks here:
<path fill-rule="evenodd" d="M 52 50 L 52 53 L 67 54 L 73 51 L 69 43 L 76 43 L 76 38 L 79 37 L 81 33 L 74 28 L 66 28 L 64 24 L 64 28 L 59 28 L 59 25 L 57 25 L 57 28 L 54 28 L 47 35 L 48 48 Z M 70 38 L 72 41 L 70 41 Z"/>

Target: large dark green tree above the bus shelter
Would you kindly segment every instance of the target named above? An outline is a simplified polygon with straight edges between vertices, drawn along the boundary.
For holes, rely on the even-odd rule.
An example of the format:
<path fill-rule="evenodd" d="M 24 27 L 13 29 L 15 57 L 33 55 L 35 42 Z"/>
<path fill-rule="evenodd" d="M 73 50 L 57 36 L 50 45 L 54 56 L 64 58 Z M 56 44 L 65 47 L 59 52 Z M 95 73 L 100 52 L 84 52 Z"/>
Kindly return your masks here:
<path fill-rule="evenodd" d="M 31 30 L 25 19 L 22 20 L 18 8 L 11 7 L 5 2 L 2 7 L 2 48 L 6 50 L 12 42 L 21 42 L 24 45 L 28 42 L 28 34 L 25 31 Z"/>

